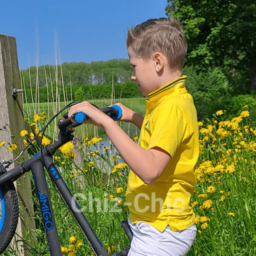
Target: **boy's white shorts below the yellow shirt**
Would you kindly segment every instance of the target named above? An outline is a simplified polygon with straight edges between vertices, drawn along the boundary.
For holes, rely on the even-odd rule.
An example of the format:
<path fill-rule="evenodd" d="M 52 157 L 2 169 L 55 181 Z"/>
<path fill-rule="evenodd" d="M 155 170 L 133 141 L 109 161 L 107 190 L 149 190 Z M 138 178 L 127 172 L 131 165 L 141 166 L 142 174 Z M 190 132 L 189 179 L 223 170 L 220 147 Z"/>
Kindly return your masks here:
<path fill-rule="evenodd" d="M 168 225 L 161 233 L 143 221 L 131 224 L 128 218 L 128 223 L 133 232 L 128 256 L 184 256 L 191 248 L 197 232 L 195 224 L 175 232 Z"/>

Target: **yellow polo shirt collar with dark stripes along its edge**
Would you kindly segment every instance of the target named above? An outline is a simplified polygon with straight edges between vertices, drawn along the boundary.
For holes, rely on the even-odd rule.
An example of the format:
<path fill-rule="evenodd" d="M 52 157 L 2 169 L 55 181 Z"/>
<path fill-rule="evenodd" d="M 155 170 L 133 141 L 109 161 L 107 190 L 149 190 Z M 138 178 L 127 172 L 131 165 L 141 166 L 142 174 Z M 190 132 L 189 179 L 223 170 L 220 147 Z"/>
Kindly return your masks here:
<path fill-rule="evenodd" d="M 178 90 L 179 88 L 185 87 L 187 76 L 181 76 L 174 81 L 169 82 L 168 84 L 154 90 L 152 93 L 148 93 L 149 102 L 157 102 L 163 96 L 166 96 L 174 91 Z M 175 86 L 178 84 L 178 86 Z M 186 90 L 186 88 L 184 88 Z"/>

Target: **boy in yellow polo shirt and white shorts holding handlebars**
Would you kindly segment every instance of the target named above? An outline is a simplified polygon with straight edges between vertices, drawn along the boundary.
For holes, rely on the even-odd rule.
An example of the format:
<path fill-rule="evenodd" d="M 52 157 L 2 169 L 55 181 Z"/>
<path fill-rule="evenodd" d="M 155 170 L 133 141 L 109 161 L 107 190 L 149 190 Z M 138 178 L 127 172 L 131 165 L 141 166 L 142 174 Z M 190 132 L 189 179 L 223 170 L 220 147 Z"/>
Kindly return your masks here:
<path fill-rule="evenodd" d="M 196 186 L 194 170 L 199 157 L 195 105 L 181 76 L 187 42 L 179 20 L 147 20 L 128 29 L 131 79 L 149 100 L 145 117 L 124 105 L 119 120 L 140 128 L 138 144 L 104 113 L 82 102 L 82 111 L 105 130 L 130 167 L 126 204 L 133 232 L 128 256 L 183 256 L 196 236 L 195 213 L 189 206 Z M 73 120 L 74 121 L 74 120 Z"/>

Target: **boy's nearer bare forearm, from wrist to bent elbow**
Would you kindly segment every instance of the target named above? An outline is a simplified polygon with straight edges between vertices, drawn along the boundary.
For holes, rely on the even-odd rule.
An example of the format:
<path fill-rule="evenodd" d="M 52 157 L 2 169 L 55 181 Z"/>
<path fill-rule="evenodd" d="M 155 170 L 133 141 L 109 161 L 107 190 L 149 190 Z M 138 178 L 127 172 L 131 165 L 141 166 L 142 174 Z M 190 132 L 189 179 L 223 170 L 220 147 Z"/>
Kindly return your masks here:
<path fill-rule="evenodd" d="M 103 129 L 129 168 L 146 184 L 151 184 L 157 175 L 154 154 L 134 142 L 125 131 L 108 118 Z"/>

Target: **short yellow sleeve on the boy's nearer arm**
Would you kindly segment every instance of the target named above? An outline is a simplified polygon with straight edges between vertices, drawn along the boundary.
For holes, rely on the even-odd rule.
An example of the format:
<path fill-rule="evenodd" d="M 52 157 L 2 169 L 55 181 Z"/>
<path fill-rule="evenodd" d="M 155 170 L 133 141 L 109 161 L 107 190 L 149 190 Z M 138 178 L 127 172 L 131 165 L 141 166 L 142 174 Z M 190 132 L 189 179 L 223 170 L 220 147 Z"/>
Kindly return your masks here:
<path fill-rule="evenodd" d="M 188 123 L 177 105 L 163 105 L 152 117 L 152 134 L 148 149 L 155 146 L 168 152 L 172 159 L 189 134 Z"/>

